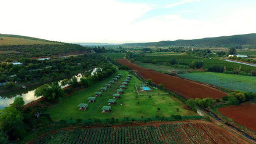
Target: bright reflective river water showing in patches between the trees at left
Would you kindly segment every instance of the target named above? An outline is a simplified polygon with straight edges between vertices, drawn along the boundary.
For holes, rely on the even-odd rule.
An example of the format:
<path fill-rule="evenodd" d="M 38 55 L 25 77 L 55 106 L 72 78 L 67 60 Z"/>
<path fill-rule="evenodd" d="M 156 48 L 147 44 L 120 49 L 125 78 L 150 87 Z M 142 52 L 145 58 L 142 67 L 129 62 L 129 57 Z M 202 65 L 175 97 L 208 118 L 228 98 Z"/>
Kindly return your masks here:
<path fill-rule="evenodd" d="M 91 75 L 94 75 L 96 73 L 97 68 L 94 68 L 92 70 Z M 78 81 L 82 78 L 82 74 L 79 73 L 76 75 L 76 78 Z M 60 84 L 61 81 L 58 81 L 58 84 Z M 66 86 L 61 86 L 62 88 L 67 87 Z M 32 102 L 33 100 L 37 100 L 40 97 L 36 97 L 34 95 L 34 91 L 38 88 L 39 86 L 34 86 L 34 87 L 28 87 L 26 89 L 21 89 L 21 90 L 15 90 L 15 92 L 9 92 L 8 94 L 0 95 L 0 110 L 4 109 L 4 107 L 9 106 L 10 103 L 14 102 L 15 97 L 22 96 L 25 104 Z"/>

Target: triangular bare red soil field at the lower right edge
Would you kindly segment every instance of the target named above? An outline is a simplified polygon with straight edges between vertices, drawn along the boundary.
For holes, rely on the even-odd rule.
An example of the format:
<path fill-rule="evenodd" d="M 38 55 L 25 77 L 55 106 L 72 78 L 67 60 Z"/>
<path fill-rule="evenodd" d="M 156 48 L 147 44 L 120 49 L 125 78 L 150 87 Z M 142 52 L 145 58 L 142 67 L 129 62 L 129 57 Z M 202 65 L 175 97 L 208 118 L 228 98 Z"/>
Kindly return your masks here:
<path fill-rule="evenodd" d="M 233 119 L 234 122 L 256 132 L 255 103 L 243 103 L 242 105 L 226 106 L 223 108 L 218 108 L 218 111 L 228 118 Z"/>

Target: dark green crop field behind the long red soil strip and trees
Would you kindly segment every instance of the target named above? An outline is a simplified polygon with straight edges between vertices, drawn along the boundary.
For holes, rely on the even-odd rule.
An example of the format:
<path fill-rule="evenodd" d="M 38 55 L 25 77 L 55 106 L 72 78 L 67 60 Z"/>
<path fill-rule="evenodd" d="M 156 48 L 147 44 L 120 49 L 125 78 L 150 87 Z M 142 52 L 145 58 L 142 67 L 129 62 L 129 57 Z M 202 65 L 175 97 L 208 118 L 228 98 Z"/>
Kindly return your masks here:
<path fill-rule="evenodd" d="M 204 62 L 204 68 L 209 68 L 213 65 L 226 66 L 226 70 L 234 70 L 241 66 L 242 71 L 252 71 L 256 70 L 256 67 L 249 65 L 242 65 L 239 63 L 226 62 L 218 58 L 202 58 L 193 55 L 161 55 L 161 56 L 150 56 L 146 55 L 144 57 L 139 57 L 138 60 L 155 60 L 156 62 L 170 62 L 172 58 L 175 58 L 180 65 L 191 65 L 194 60 L 199 60 Z"/>

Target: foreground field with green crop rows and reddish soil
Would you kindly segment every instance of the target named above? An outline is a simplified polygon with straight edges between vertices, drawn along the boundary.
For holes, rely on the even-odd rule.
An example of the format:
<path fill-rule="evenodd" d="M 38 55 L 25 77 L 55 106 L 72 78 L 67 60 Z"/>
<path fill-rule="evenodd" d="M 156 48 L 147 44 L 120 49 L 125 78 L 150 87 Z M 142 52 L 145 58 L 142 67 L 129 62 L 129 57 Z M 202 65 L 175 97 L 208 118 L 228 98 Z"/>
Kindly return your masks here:
<path fill-rule="evenodd" d="M 205 121 L 156 122 L 134 126 L 66 129 L 31 143 L 246 143 Z"/>

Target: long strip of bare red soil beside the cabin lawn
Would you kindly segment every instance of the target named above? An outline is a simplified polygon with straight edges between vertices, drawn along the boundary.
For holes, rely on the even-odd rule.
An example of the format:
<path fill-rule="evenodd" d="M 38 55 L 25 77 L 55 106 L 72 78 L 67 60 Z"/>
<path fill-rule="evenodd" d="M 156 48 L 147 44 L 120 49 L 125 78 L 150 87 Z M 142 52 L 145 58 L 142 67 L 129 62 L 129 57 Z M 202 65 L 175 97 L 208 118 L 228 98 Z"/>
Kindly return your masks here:
<path fill-rule="evenodd" d="M 143 79 L 152 79 L 154 84 L 163 84 L 164 87 L 175 94 L 184 98 L 222 98 L 227 96 L 225 92 L 214 89 L 212 87 L 199 84 L 197 82 L 188 81 L 186 79 L 170 76 L 168 74 L 158 73 L 154 70 L 142 68 L 127 59 L 116 59 L 116 62 L 128 66 L 134 70 Z"/>

